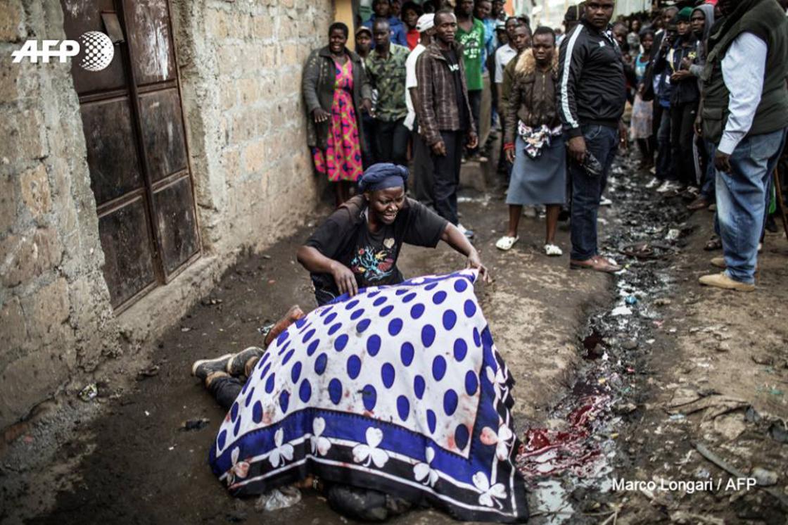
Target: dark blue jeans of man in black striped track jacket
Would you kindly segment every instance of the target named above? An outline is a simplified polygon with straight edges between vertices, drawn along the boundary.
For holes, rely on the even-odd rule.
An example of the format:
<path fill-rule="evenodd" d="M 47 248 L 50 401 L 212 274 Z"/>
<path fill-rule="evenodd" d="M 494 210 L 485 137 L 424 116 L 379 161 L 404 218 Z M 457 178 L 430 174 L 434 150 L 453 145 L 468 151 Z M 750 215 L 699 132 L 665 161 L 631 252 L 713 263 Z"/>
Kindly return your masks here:
<path fill-rule="evenodd" d="M 604 169 L 599 177 L 592 177 L 577 162 L 570 161 L 568 165 L 572 181 L 571 259 L 575 261 L 585 261 L 597 255 L 599 199 L 608 182 L 608 173 L 619 143 L 619 131 L 615 128 L 584 125 L 582 132 L 585 151 L 596 157 Z"/>

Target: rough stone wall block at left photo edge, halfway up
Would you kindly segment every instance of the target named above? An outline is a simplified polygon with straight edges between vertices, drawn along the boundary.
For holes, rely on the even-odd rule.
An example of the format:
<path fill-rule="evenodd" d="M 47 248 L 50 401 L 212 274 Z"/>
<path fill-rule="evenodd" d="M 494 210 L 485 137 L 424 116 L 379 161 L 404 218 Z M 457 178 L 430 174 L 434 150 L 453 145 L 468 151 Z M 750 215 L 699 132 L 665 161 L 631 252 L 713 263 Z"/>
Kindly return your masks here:
<path fill-rule="evenodd" d="M 0 241 L 2 284 L 13 288 L 39 276 L 60 263 L 62 248 L 58 234 L 51 228 L 36 229 L 24 235 L 9 235 Z"/>

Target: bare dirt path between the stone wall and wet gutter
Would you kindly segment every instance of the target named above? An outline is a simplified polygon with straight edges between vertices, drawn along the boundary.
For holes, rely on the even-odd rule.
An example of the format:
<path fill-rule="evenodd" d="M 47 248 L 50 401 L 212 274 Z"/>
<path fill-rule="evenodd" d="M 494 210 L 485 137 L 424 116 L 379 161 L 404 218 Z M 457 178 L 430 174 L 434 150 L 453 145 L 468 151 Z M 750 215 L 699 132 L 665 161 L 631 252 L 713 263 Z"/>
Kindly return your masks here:
<path fill-rule="evenodd" d="M 521 240 L 511 251 L 494 248 L 507 210 L 501 195 L 466 195 L 463 223 L 477 232 L 474 244 L 495 279 L 477 292 L 493 337 L 514 375 L 515 423 L 545 419 L 548 405 L 571 382 L 576 342 L 590 311 L 607 303 L 613 277 L 568 270 L 568 255 L 541 254 L 545 222 L 523 218 Z M 325 210 L 327 213 L 329 210 Z M 312 227 L 314 221 L 312 219 Z M 237 265 L 152 350 L 150 363 L 128 370 L 129 385 L 99 379 L 99 416 L 77 421 L 54 464 L 15 467 L 2 477 L 5 523 L 342 523 L 317 496 L 260 515 L 254 501 L 237 501 L 211 474 L 207 451 L 224 413 L 189 375 L 195 359 L 260 344 L 258 327 L 293 303 L 314 307 L 307 273 L 295 262 L 310 226 Z M 559 231 L 568 254 L 568 232 Z M 444 273 L 464 260 L 446 246 L 407 247 L 400 258 L 406 276 Z M 156 368 L 158 367 L 158 368 Z M 149 377 L 150 376 L 150 377 Z M 82 403 L 76 401 L 77 404 Z M 180 430 L 188 419 L 210 419 L 202 430 Z M 13 453 L 35 464 L 35 439 L 20 436 Z M 436 512 L 403 518 L 446 519 Z"/>

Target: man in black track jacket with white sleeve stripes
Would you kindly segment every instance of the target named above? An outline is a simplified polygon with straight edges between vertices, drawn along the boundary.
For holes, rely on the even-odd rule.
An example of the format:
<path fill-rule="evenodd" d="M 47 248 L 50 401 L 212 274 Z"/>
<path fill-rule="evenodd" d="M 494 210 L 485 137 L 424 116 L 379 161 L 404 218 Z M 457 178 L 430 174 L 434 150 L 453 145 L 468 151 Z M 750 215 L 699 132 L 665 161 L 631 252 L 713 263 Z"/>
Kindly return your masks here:
<path fill-rule="evenodd" d="M 614 6 L 614 0 L 587 0 L 559 54 L 559 114 L 572 181 L 570 267 L 608 273 L 621 268 L 599 255 L 597 210 L 619 140 L 626 145 L 624 65 L 609 27 Z"/>

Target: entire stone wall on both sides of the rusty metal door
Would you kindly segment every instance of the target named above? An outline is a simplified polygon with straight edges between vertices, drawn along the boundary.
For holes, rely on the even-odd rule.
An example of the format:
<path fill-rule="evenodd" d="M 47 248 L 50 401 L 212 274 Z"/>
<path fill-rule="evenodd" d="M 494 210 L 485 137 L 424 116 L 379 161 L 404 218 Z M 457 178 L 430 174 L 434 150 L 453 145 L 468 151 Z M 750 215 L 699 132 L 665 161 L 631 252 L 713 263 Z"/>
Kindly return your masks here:
<path fill-rule="evenodd" d="M 144 357 L 240 253 L 314 209 L 300 80 L 333 9 L 297 3 L 171 0 L 203 258 L 116 316 L 69 64 L 10 58 L 65 38 L 60 2 L 0 2 L 0 429 L 123 348 Z"/>

